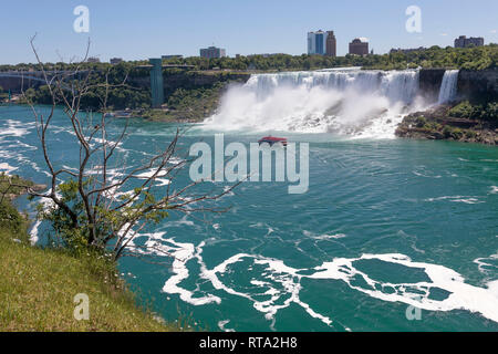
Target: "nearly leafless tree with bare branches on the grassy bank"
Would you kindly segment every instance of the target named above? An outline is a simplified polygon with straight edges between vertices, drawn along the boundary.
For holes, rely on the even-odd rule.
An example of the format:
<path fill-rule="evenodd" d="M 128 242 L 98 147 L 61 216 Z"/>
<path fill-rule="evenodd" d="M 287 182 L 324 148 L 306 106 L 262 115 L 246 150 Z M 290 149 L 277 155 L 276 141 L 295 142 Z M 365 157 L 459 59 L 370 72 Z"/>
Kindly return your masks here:
<path fill-rule="evenodd" d="M 41 150 L 51 176 L 49 191 L 30 190 L 30 194 L 49 201 L 44 202 L 39 217 L 51 221 L 58 235 L 69 242 L 110 250 L 116 260 L 125 253 L 138 252 L 135 247 L 131 247 L 133 239 L 146 225 L 160 221 L 170 211 L 224 211 L 215 208 L 212 201 L 239 184 L 222 191 L 212 189 L 207 194 L 195 192 L 195 187 L 201 180 L 176 187 L 174 181 L 178 173 L 191 162 L 177 158 L 178 140 L 184 133 L 180 129 L 176 129 L 172 140 L 145 162 L 126 166 L 125 162 L 118 160 L 120 166 L 112 165 L 116 164 L 116 149 L 127 136 L 128 124 L 126 122 L 121 134 L 110 137 L 107 125 L 113 117 L 106 114 L 107 96 L 110 90 L 124 87 L 126 77 L 117 85 L 110 84 L 107 72 L 104 82 L 93 83 L 92 75 L 103 73 L 95 73 L 84 65 L 89 58 L 90 41 L 83 60 L 75 63 L 74 70 L 58 71 L 54 66 L 50 72 L 40 60 L 34 37 L 30 43 L 52 100 L 50 112 L 42 114 L 31 97 L 23 93 L 32 108 Z M 82 110 L 82 100 L 91 92 L 101 93 L 101 110 L 96 119 L 92 113 Z M 79 166 L 74 169 L 56 167 L 52 159 L 54 147 L 49 146 L 48 136 L 58 107 L 64 110 L 74 144 L 80 150 Z M 165 179 L 169 180 L 167 186 L 164 185 Z M 133 180 L 139 180 L 139 186 L 122 192 L 122 188 Z"/>

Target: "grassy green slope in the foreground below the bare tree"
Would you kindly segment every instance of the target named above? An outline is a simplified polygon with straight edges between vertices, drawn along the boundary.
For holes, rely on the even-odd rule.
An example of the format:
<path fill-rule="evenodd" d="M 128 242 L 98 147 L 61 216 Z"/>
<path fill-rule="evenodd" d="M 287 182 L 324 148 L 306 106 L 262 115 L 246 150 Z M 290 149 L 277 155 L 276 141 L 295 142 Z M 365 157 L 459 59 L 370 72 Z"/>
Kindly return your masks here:
<path fill-rule="evenodd" d="M 4 191 L 6 178 L 0 176 L 0 191 Z M 64 249 L 31 246 L 29 221 L 10 201 L 13 192 L 19 196 L 23 191 L 9 190 L 9 197 L 0 202 L 1 331 L 180 330 L 137 306 L 115 263 L 90 253 L 74 256 Z M 77 294 L 89 296 L 87 321 L 74 317 Z"/>

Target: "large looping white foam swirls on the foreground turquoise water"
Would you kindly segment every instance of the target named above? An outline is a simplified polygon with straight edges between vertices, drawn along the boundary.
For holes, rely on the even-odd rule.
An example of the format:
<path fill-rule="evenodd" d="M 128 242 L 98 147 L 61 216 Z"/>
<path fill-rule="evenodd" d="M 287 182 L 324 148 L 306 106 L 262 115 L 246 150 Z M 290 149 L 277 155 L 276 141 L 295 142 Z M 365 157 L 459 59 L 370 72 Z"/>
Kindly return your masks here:
<path fill-rule="evenodd" d="M 169 241 L 174 242 L 173 240 Z M 179 287 L 179 282 L 188 278 L 188 270 L 185 267 L 186 261 L 196 258 L 200 266 L 200 278 L 208 280 L 216 291 L 224 291 L 230 295 L 251 301 L 256 310 L 263 313 L 267 320 L 272 321 L 271 326 L 274 324 L 276 314 L 280 310 L 288 308 L 291 303 L 300 305 L 311 317 L 318 319 L 326 325 L 332 324 L 332 320 L 329 316 L 318 313 L 310 304 L 300 300 L 299 293 L 302 290 L 301 279 L 303 278 L 343 281 L 351 289 L 386 302 L 402 302 L 427 311 L 446 312 L 466 310 L 479 313 L 486 319 L 498 322 L 498 281 L 488 282 L 486 288 L 470 285 L 465 282 L 464 277 L 449 268 L 414 262 L 405 254 L 363 254 L 360 258 L 353 259 L 336 258 L 331 262 L 324 262 L 322 266 L 314 268 L 312 274 L 303 275 L 302 271 L 304 269 L 294 269 L 286 266 L 281 260 L 248 253 L 235 254 L 215 268 L 207 269 L 201 258 L 204 242 L 195 248 L 196 251 L 190 243 L 175 244 L 179 247 L 176 254 L 181 256 L 184 261 L 177 263 L 177 267 L 174 268 L 176 275 L 166 282 L 163 289 L 164 292 L 177 293 L 181 300 L 194 305 L 221 303 L 221 298 L 217 295 L 208 294 L 201 298 L 195 298 L 191 291 Z M 255 294 L 247 292 L 247 290 L 236 290 L 220 280 L 220 277 L 231 272 L 231 266 L 246 259 L 251 259 L 255 266 L 264 266 L 266 270 L 259 277 L 263 277 L 266 280 L 252 279 L 250 282 L 255 287 L 267 289 L 264 292 Z M 422 270 L 428 277 L 429 281 L 415 283 L 381 282 L 355 269 L 354 262 L 359 260 L 380 260 L 387 263 L 401 264 L 417 271 Z M 249 270 L 252 271 L 252 267 Z M 308 271 L 310 270 L 308 269 Z M 363 278 L 367 285 L 360 287 L 353 284 L 353 280 L 356 277 Z M 280 288 L 274 288 L 276 284 L 279 284 Z M 385 287 L 393 288 L 396 291 L 394 293 L 385 293 L 377 290 Z M 414 289 L 416 292 L 413 291 Z M 429 299 L 432 289 L 447 291 L 449 295 L 444 300 Z M 269 299 L 258 300 L 256 299 L 257 295 L 268 295 Z"/>

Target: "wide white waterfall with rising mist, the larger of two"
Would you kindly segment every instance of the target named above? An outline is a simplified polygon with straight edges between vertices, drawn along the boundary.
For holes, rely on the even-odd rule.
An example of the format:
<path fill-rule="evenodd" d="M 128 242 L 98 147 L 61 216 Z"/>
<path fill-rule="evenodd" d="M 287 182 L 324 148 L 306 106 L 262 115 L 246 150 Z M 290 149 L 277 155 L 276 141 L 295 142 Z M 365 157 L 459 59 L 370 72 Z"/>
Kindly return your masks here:
<path fill-rule="evenodd" d="M 216 129 L 336 132 L 394 136 L 395 126 L 418 93 L 418 70 L 255 74 L 228 90 L 217 114 L 205 123 Z M 385 131 L 385 132 L 381 132 Z"/>

